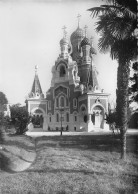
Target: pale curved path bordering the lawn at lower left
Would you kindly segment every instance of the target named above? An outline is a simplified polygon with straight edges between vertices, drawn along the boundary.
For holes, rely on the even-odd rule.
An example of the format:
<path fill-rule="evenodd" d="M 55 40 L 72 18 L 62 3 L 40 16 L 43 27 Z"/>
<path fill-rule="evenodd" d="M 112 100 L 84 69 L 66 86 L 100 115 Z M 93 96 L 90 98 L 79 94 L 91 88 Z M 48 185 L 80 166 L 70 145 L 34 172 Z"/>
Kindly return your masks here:
<path fill-rule="evenodd" d="M 36 147 L 34 143 L 30 142 L 28 137 L 21 137 L 21 139 L 16 137 L 4 141 L 2 150 L 0 150 L 0 170 L 8 173 L 16 173 L 20 171 L 18 167 L 15 167 L 18 164 L 25 164 L 23 165 L 23 169 L 27 168 L 26 164 L 32 165 L 36 158 Z M 13 170 L 14 168 L 17 170 Z"/>

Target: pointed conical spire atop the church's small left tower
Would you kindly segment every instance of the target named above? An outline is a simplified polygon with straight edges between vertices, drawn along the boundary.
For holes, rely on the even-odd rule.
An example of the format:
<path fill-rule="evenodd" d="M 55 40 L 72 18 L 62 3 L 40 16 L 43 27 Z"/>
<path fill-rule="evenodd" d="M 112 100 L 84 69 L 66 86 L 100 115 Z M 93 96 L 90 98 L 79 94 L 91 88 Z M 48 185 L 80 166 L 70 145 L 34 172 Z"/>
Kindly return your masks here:
<path fill-rule="evenodd" d="M 43 94 L 40 81 L 38 78 L 37 70 L 38 70 L 38 66 L 36 65 L 35 66 L 35 77 L 34 77 L 34 82 L 33 82 L 32 90 L 31 90 L 31 94 L 33 94 L 34 96 Z"/>

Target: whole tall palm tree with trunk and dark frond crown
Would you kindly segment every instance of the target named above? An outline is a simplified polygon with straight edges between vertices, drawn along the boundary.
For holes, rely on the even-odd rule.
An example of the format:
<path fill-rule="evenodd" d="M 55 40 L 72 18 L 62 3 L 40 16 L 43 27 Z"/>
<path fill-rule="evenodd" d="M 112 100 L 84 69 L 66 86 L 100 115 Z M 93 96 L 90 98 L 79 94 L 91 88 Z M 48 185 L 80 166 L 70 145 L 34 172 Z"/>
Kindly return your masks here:
<path fill-rule="evenodd" d="M 111 58 L 118 62 L 117 125 L 121 132 L 121 158 L 125 159 L 129 68 L 131 61 L 137 57 L 137 1 L 108 0 L 106 5 L 88 11 L 91 11 L 92 17 L 98 16 L 99 50 L 110 52 Z"/>

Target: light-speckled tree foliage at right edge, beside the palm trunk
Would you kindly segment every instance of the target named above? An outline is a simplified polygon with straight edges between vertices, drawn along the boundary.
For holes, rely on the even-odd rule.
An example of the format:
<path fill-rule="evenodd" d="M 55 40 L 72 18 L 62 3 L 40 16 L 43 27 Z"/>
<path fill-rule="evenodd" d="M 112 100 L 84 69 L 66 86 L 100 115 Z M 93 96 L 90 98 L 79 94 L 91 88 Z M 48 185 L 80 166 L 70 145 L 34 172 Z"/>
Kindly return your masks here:
<path fill-rule="evenodd" d="M 138 62 L 133 63 L 132 69 L 134 70 L 133 77 L 130 78 L 132 85 L 129 88 L 131 95 L 130 102 L 138 102 Z"/>

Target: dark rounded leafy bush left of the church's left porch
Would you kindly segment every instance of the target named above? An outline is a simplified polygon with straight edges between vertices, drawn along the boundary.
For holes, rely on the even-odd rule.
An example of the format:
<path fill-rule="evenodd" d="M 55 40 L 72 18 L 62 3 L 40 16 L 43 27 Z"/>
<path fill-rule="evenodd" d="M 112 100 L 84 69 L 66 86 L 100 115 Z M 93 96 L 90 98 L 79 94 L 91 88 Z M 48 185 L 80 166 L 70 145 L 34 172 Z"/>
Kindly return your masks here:
<path fill-rule="evenodd" d="M 25 106 L 19 104 L 11 106 L 11 122 L 16 128 L 17 134 L 23 134 L 29 121 L 29 114 Z"/>

